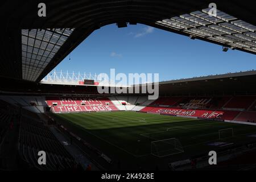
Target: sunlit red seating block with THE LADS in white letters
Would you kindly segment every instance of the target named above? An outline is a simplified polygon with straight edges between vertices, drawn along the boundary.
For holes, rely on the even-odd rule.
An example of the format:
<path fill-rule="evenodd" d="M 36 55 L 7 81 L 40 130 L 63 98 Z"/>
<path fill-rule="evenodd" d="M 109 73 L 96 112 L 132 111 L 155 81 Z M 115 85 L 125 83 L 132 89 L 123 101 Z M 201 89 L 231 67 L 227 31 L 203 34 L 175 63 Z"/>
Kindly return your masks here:
<path fill-rule="evenodd" d="M 107 97 L 46 97 L 46 103 L 53 113 L 118 110 Z"/>

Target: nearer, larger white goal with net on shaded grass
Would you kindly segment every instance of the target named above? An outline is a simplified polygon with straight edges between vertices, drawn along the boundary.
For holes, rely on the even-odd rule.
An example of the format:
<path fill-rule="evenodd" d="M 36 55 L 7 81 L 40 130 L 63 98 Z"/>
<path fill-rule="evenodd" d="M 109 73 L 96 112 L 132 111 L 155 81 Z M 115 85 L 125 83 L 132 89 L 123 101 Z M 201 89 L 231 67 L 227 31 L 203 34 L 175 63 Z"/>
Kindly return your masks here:
<path fill-rule="evenodd" d="M 176 138 L 156 140 L 151 142 L 151 154 L 159 158 L 184 152 L 181 143 Z"/>

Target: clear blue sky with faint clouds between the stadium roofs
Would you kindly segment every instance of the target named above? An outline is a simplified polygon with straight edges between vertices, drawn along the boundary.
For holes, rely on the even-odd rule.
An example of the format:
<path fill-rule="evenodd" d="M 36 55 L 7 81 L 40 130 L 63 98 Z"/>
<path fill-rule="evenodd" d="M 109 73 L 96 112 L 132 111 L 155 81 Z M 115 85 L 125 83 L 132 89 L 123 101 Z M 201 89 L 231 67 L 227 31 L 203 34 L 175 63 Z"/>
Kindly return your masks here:
<path fill-rule="evenodd" d="M 159 81 L 256 69 L 256 55 L 191 40 L 143 24 L 118 28 L 115 24 L 94 31 L 56 71 L 159 73 Z"/>

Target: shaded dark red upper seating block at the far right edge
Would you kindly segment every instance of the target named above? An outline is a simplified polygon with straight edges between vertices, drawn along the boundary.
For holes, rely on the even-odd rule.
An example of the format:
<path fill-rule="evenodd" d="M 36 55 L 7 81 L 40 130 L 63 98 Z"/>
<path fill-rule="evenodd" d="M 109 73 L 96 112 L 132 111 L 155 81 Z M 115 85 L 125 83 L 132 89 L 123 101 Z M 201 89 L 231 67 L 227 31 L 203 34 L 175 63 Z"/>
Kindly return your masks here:
<path fill-rule="evenodd" d="M 225 108 L 235 108 L 235 109 L 248 109 L 248 107 L 253 104 L 255 97 L 249 96 L 236 96 L 228 102 L 224 107 Z"/>

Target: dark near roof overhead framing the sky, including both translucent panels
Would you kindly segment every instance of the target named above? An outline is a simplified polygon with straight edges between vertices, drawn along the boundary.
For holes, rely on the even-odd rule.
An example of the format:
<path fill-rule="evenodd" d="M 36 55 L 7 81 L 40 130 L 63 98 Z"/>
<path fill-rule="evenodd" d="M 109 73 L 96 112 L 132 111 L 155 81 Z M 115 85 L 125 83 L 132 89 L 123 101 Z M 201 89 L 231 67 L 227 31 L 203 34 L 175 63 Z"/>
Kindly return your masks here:
<path fill-rule="evenodd" d="M 46 17 L 38 4 L 46 3 Z M 2 2 L 0 76 L 40 81 L 94 30 L 111 23 L 142 23 L 221 46 L 256 54 L 255 6 L 203 0 Z"/>

